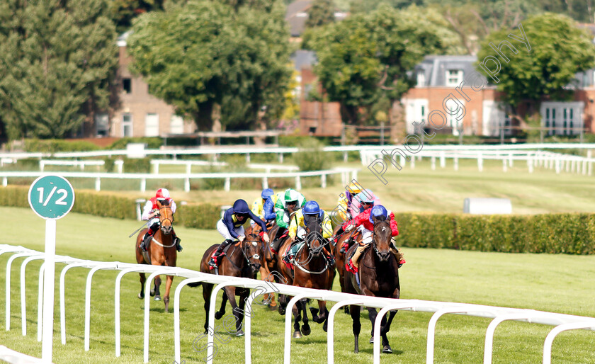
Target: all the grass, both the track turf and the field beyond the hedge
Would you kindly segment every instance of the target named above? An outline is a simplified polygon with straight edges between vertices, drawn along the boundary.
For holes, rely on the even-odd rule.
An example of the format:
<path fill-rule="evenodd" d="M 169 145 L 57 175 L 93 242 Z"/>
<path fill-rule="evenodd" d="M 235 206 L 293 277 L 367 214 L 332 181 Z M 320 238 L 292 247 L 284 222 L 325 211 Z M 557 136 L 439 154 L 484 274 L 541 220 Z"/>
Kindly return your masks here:
<path fill-rule="evenodd" d="M 518 164 L 502 173 L 501 164 L 488 166 L 482 174 L 471 163 L 461 163 L 461 170 L 430 171 L 428 163 L 417 164 L 387 174 L 390 183 L 383 186 L 368 171 L 361 171 L 359 181 L 373 188 L 385 205 L 393 210 L 426 210 L 458 212 L 465 197 L 507 197 L 516 213 L 591 211 L 595 203 L 592 178 L 571 174 L 555 175 L 538 170 L 527 174 Z M 75 188 L 77 185 L 75 184 Z M 341 187 L 327 190 L 305 189 L 307 198 L 331 206 Z M 200 191 L 179 193 L 174 198 L 210 200 L 227 204 L 234 198 L 251 199 L 257 192 Z M 137 195 L 137 192 L 130 192 Z M 28 209 L 1 207 L 5 218 L 4 244 L 21 244 L 42 251 L 44 222 Z M 70 214 L 57 224 L 57 254 L 98 261 L 134 261 L 132 239 L 128 234 L 139 226 L 135 221 L 121 221 Z M 176 229 L 185 250 L 179 254 L 179 266 L 198 268 L 203 251 L 220 241 L 215 230 Z M 397 238 L 398 245 L 398 238 Z M 521 307 L 550 312 L 595 316 L 591 278 L 595 275 L 595 257 L 545 254 L 497 254 L 472 251 L 407 249 L 407 264 L 399 272 L 402 298 L 483 305 Z M 8 256 L 0 256 L 5 266 Z M 19 262 L 22 260 L 18 260 Z M 60 268 L 62 265 L 58 265 Z M 21 336 L 21 314 L 18 291 L 20 264 L 13 264 L 11 294 L 11 331 L 0 331 L 0 343 L 17 351 L 40 357 L 41 345 L 35 339 L 37 320 L 37 272 L 39 263 L 28 268 L 28 336 Z M 74 268 L 67 275 L 67 345 L 60 343 L 59 321 L 55 324 L 55 363 L 142 363 L 142 302 L 136 298 L 140 288 L 138 276 L 128 275 L 122 284 L 122 356 L 115 358 L 113 335 L 113 278 L 115 272 L 98 272 L 94 279 L 91 301 L 91 351 L 84 351 L 84 284 L 86 269 Z M 0 269 L 0 282 L 4 282 Z M 172 295 L 176 283 L 174 280 Z M 202 332 L 205 319 L 201 288 L 185 288 L 181 301 L 182 358 L 198 363 L 203 356 L 192 349 L 193 339 Z M 334 290 L 339 290 L 335 280 Z M 0 295 L 4 307 L 4 295 Z M 58 312 L 56 302 L 56 312 Z M 153 363 L 174 360 L 173 314 L 165 314 L 162 302 L 152 302 L 150 358 Z M 4 310 L 3 310 L 4 311 Z M 228 312 L 230 310 L 228 309 Z M 280 363 L 283 360 L 283 317 L 263 307 L 253 311 L 254 363 Z M 4 315 L 3 315 L 4 316 Z M 57 316 L 56 316 L 57 317 Z M 383 356 L 386 363 L 422 363 L 426 351 L 427 324 L 431 314 L 399 312 L 392 324 L 389 339 L 395 353 Z M 336 363 L 370 363 L 372 345 L 368 344 L 370 323 L 362 314 L 361 353 L 353 354 L 351 319 L 339 314 L 336 322 Z M 480 363 L 483 358 L 485 329 L 489 319 L 450 315 L 437 326 L 436 363 Z M 322 363 L 326 360 L 326 334 L 312 324 L 312 334 L 293 340 L 293 363 Z M 4 325 L 3 325 L 4 326 Z M 538 363 L 543 340 L 552 326 L 505 322 L 496 331 L 494 363 Z M 227 334 L 223 334 L 227 335 Z M 244 361 L 244 339 L 229 338 L 219 346 L 215 361 Z M 555 340 L 555 363 L 593 363 L 595 334 L 570 331 Z"/>

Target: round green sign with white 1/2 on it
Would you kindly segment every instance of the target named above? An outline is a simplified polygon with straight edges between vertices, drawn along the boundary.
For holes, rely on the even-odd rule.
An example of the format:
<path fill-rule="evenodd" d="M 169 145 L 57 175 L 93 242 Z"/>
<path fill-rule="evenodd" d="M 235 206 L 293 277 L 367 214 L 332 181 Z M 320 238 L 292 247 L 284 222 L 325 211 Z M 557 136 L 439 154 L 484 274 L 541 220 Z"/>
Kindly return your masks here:
<path fill-rule="evenodd" d="M 74 189 L 61 176 L 41 176 L 29 188 L 29 205 L 39 217 L 57 220 L 74 205 Z"/>

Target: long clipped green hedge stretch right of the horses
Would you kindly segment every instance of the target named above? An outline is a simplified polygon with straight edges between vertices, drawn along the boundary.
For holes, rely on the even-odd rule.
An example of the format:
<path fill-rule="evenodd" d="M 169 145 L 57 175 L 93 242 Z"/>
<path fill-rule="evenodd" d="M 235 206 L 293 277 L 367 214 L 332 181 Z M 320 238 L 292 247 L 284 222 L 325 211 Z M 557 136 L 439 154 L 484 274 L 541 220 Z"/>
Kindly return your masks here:
<path fill-rule="evenodd" d="M 395 215 L 399 246 L 595 254 L 595 214 Z"/>

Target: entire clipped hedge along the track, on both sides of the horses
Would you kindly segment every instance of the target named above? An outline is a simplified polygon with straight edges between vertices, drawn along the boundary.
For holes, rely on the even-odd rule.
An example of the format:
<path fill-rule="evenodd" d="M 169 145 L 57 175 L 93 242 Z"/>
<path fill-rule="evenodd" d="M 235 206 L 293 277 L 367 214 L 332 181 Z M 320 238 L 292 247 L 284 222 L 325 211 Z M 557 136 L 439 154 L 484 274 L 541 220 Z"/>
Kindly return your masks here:
<path fill-rule="evenodd" d="M 28 187 L 0 188 L 0 205 L 29 207 Z M 220 207 L 178 205 L 176 224 L 215 229 Z M 135 198 L 77 191 L 73 212 L 136 219 Z M 399 213 L 397 246 L 508 253 L 595 254 L 595 214 L 463 215 Z"/>

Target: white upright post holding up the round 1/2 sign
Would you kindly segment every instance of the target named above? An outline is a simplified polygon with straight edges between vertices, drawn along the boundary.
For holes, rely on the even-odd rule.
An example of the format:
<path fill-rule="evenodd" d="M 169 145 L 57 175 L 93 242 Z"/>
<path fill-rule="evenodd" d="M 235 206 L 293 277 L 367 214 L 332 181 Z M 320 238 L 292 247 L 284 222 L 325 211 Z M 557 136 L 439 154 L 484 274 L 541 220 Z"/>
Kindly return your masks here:
<path fill-rule="evenodd" d="M 52 363 L 54 343 L 54 279 L 56 220 L 45 220 L 45 282 L 43 283 L 43 325 L 41 360 Z"/>

